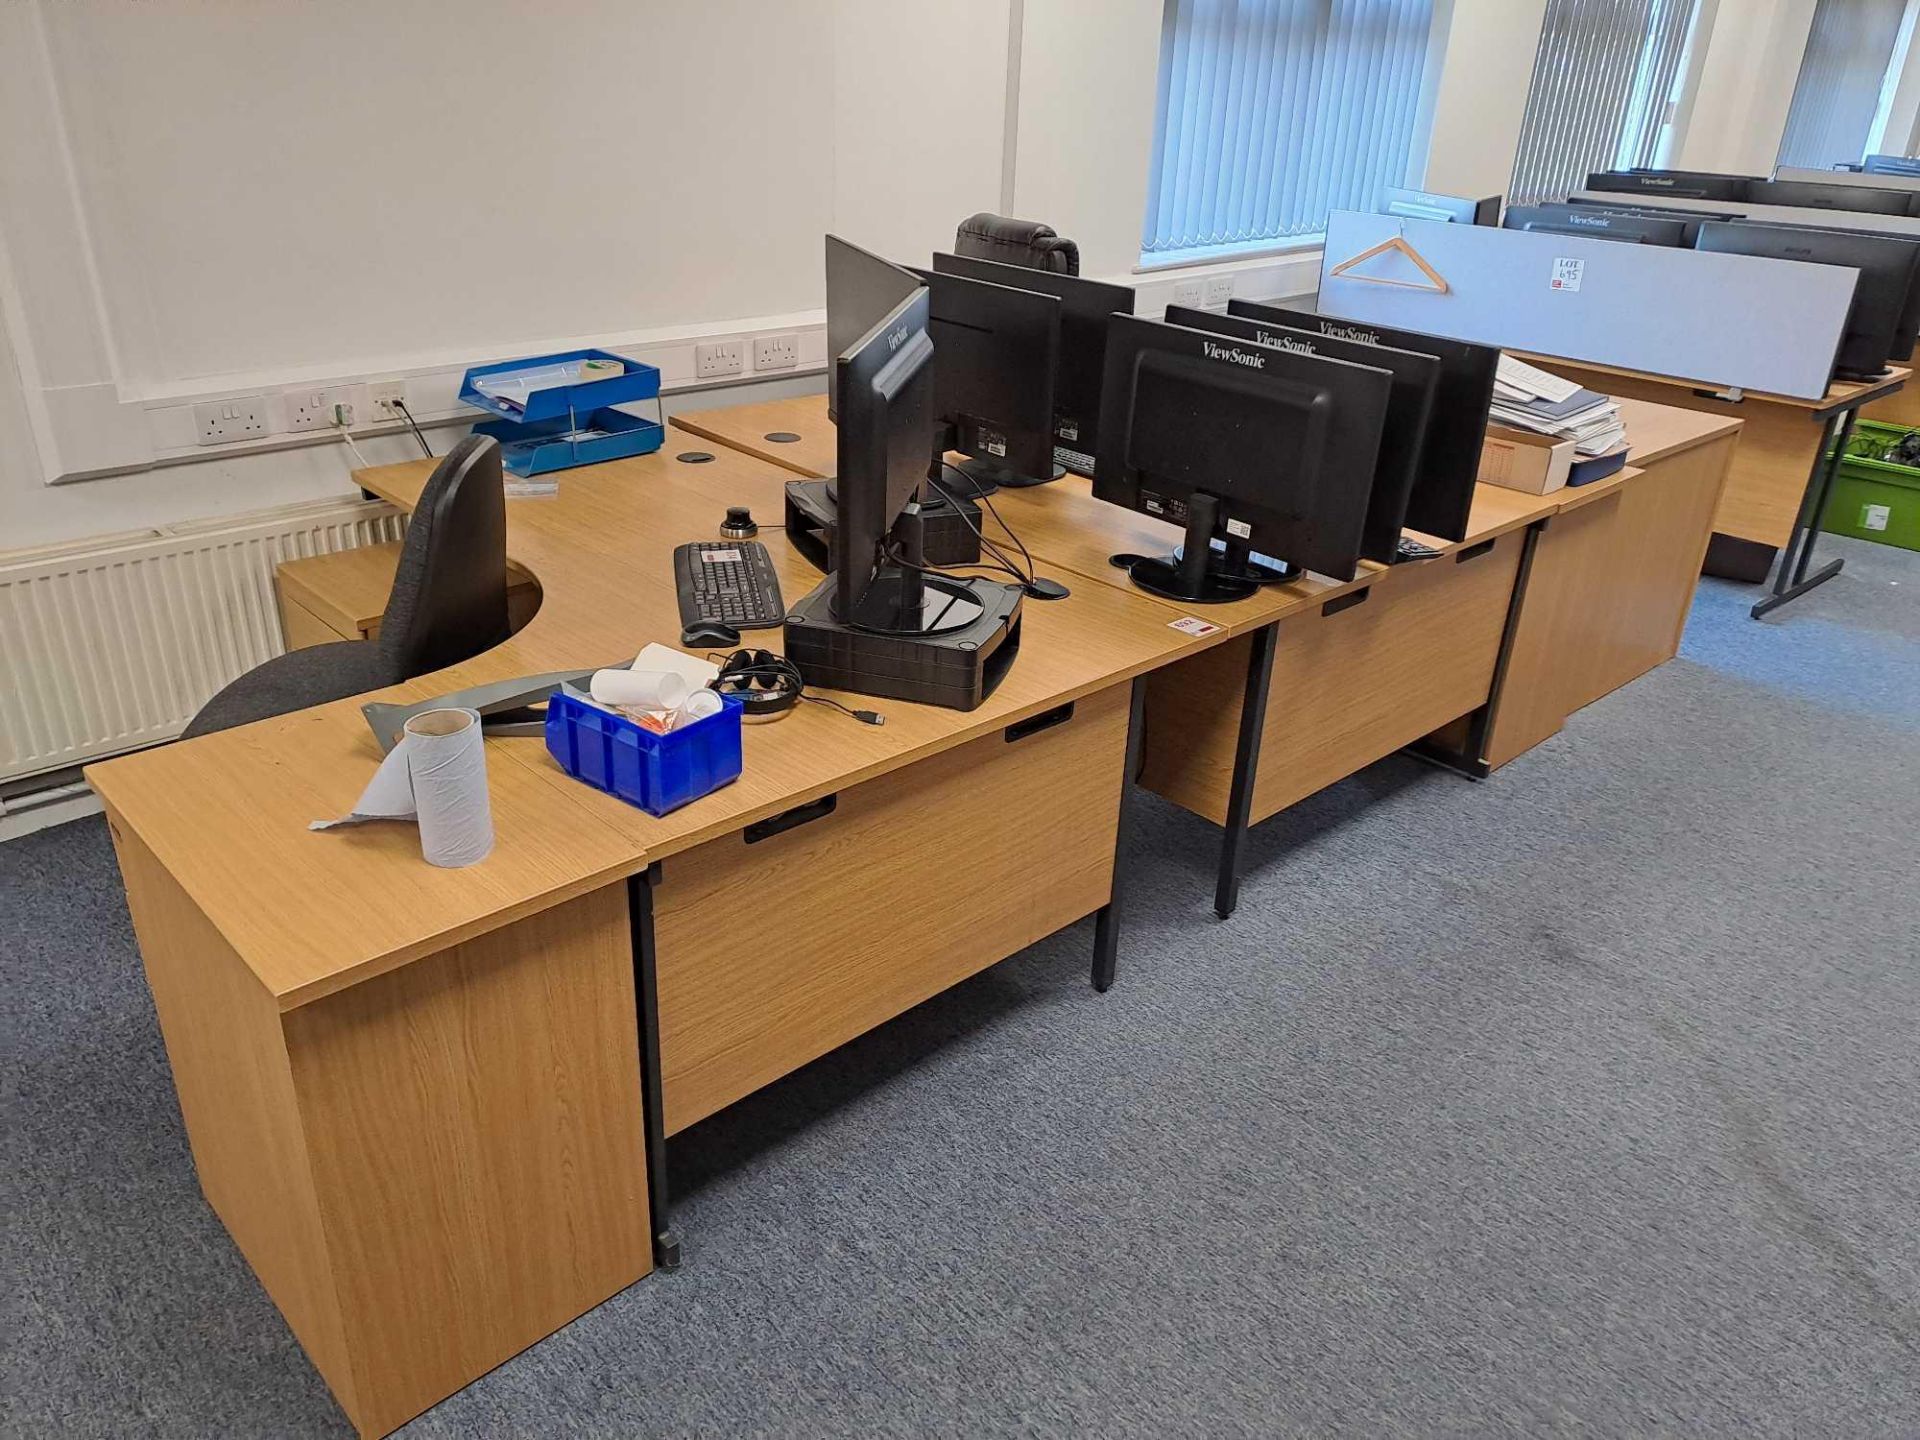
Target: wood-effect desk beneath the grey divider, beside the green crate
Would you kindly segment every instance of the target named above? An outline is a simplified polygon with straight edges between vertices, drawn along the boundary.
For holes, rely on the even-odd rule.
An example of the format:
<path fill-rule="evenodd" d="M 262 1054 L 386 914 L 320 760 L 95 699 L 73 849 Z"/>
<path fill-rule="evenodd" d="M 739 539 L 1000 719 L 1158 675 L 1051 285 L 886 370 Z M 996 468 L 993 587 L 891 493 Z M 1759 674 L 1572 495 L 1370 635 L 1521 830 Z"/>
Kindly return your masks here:
<path fill-rule="evenodd" d="M 1816 488 L 1820 457 L 1845 417 L 1864 405 L 1889 403 L 1912 374 L 1908 369 L 1895 369 L 1885 380 L 1870 384 L 1836 382 L 1824 399 L 1759 392 L 1726 399 L 1722 392 L 1692 380 L 1619 371 L 1609 365 L 1580 365 L 1551 355 L 1530 359 L 1601 394 L 1743 420 L 1745 432 L 1734 455 L 1734 468 L 1715 509 L 1716 540 L 1707 566 L 1711 574 L 1753 582 L 1766 578 L 1780 547 L 1793 538 L 1795 524 Z"/>

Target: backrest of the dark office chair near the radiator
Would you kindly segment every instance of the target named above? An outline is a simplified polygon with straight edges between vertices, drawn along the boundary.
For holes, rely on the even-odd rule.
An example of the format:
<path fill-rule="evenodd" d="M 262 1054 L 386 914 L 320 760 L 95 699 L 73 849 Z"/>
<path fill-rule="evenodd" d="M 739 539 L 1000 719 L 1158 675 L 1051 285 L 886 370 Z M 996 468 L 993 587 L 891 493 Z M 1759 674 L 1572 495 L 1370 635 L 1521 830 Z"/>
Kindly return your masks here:
<path fill-rule="evenodd" d="M 399 680 L 413 680 L 470 660 L 507 636 L 499 442 L 467 436 L 434 467 L 413 507 L 380 618 L 380 655 Z"/>

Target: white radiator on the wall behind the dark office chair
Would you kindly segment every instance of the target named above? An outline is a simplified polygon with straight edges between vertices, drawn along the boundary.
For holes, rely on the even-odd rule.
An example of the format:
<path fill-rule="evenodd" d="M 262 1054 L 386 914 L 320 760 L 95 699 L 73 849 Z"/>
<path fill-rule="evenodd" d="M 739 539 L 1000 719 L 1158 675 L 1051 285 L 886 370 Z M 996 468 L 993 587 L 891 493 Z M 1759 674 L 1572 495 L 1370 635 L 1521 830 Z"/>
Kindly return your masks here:
<path fill-rule="evenodd" d="M 280 561 L 403 526 L 392 505 L 338 499 L 0 551 L 0 781 L 177 737 L 221 685 L 286 649 Z"/>

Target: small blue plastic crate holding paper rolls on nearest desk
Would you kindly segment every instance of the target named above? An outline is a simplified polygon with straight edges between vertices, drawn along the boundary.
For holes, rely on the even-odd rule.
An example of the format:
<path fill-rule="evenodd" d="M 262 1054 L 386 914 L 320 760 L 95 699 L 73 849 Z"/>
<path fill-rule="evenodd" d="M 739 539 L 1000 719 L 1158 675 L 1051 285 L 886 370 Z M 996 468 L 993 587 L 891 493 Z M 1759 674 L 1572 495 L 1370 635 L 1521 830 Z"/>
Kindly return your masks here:
<path fill-rule="evenodd" d="M 564 689 L 547 701 L 547 755 L 574 780 L 666 814 L 739 780 L 741 701 L 660 735 Z"/>

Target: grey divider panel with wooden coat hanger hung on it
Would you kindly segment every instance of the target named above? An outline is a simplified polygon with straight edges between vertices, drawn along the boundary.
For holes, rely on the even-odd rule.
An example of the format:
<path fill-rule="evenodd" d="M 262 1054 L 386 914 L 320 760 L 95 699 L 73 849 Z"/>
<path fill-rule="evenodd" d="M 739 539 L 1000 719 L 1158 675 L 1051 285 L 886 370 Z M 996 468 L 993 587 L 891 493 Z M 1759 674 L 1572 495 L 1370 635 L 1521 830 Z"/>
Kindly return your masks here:
<path fill-rule="evenodd" d="M 1405 238 L 1448 294 L 1371 284 L 1421 280 L 1388 252 L 1332 275 L 1354 255 Z M 1555 273 L 1574 269 L 1578 288 Z M 1622 246 L 1484 225 L 1334 211 L 1321 257 L 1321 315 L 1373 321 L 1505 349 L 1670 374 L 1778 396 L 1826 396 L 1857 271 L 1795 259 Z"/>

